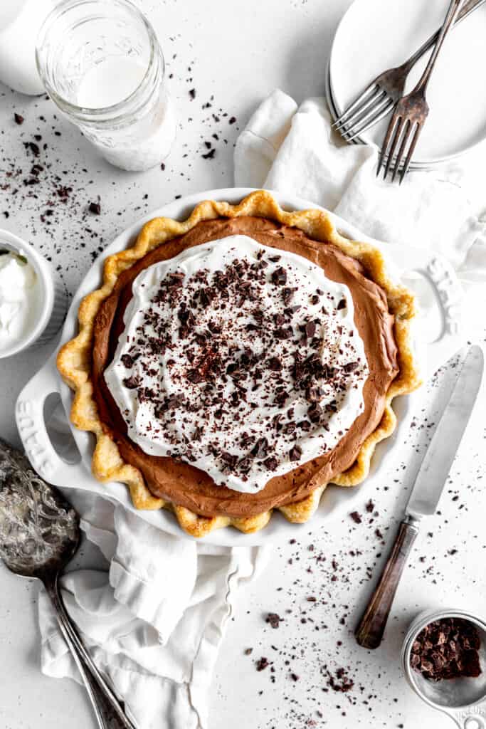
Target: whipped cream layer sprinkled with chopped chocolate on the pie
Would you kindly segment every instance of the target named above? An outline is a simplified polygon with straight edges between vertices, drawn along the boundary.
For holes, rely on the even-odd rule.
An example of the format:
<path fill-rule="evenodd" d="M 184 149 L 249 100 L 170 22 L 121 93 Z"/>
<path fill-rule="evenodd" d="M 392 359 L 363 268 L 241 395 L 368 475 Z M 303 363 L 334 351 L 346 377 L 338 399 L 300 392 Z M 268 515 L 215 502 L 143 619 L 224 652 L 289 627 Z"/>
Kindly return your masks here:
<path fill-rule="evenodd" d="M 331 451 L 364 410 L 353 299 L 307 259 L 232 235 L 132 288 L 104 377 L 145 453 L 254 493 Z"/>

